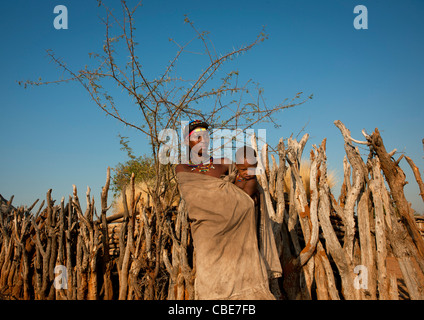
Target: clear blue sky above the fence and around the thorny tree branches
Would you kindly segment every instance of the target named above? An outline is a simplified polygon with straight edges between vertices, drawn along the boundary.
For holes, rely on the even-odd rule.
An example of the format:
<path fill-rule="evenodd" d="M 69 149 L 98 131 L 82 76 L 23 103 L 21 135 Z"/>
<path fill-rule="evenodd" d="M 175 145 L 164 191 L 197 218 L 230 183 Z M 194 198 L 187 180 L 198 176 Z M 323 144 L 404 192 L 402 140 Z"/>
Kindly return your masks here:
<path fill-rule="evenodd" d="M 58 4 L 68 9 L 68 30 L 53 27 Z M 368 30 L 353 26 L 360 4 L 368 9 Z M 221 52 L 253 40 L 266 26 L 269 39 L 231 62 L 234 68 L 261 84 L 269 105 L 299 91 L 314 95 L 278 116 L 282 128 L 261 126 L 269 144 L 308 123 L 306 151 L 327 138 L 329 168 L 341 177 L 343 139 L 333 124 L 339 119 L 359 140 L 362 129 L 377 127 L 388 150 L 405 152 L 424 169 L 424 1 L 146 0 L 136 15 L 136 36 L 147 74 L 160 74 L 175 52 L 168 38 L 192 36 L 184 14 L 210 31 Z M 137 154 L 148 153 L 146 139 L 106 117 L 77 84 L 24 89 L 16 81 L 61 77 L 46 49 L 75 70 L 88 64 L 88 53 L 102 50 L 104 11 L 94 0 L 14 0 L 0 2 L 0 15 L 0 193 L 30 205 L 49 188 L 57 201 L 67 199 L 75 184 L 81 199 L 90 186 L 99 206 L 106 168 L 127 160 L 117 135 L 129 136 Z M 411 170 L 403 160 L 401 166 L 407 197 L 424 212 Z"/>

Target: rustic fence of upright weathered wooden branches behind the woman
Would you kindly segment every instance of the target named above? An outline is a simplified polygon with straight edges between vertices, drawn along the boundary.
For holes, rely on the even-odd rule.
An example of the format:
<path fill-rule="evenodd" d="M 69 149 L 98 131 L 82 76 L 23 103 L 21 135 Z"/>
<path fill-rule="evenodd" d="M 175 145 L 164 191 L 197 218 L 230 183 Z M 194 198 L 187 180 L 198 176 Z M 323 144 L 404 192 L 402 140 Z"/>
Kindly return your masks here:
<path fill-rule="evenodd" d="M 405 198 L 403 155 L 394 160 L 377 129 L 357 141 L 340 121 L 335 125 L 346 152 L 338 199 L 328 185 L 325 139 L 310 151 L 309 185 L 299 174 L 307 134 L 281 139 L 277 159 L 269 161 L 267 145 L 262 150 L 258 182 L 283 267 L 272 292 L 279 299 L 424 299 L 424 218 Z M 365 161 L 356 144 L 369 150 Z M 405 159 L 424 197 L 419 170 Z M 0 299 L 194 298 L 183 201 L 143 205 L 132 179 L 123 213 L 107 216 L 109 181 L 108 170 L 99 216 L 90 189 L 83 212 L 75 186 L 60 204 L 51 190 L 29 208 L 0 199 Z"/>

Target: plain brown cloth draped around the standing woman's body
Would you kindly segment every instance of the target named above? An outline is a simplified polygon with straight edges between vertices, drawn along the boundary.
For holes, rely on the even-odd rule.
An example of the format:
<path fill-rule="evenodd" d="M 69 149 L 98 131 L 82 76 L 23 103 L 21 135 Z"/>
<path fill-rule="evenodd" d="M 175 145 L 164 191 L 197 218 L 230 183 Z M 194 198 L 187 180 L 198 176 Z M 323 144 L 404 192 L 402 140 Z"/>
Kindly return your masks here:
<path fill-rule="evenodd" d="M 230 172 L 221 178 L 177 173 L 192 221 L 196 299 L 275 299 L 268 277 L 281 274 L 281 265 L 269 218 L 261 215 L 256 228 L 254 201 L 231 182 L 234 165 Z"/>

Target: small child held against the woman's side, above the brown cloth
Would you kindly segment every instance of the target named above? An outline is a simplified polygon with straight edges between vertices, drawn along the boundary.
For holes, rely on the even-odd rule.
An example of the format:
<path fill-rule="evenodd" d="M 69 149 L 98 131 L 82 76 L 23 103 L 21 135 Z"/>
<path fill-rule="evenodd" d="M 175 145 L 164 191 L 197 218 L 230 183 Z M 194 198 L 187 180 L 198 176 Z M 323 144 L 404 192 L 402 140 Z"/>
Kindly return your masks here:
<path fill-rule="evenodd" d="M 252 199 L 257 196 L 256 152 L 251 147 L 243 147 L 236 152 L 237 176 L 235 185 L 246 192 Z"/>

